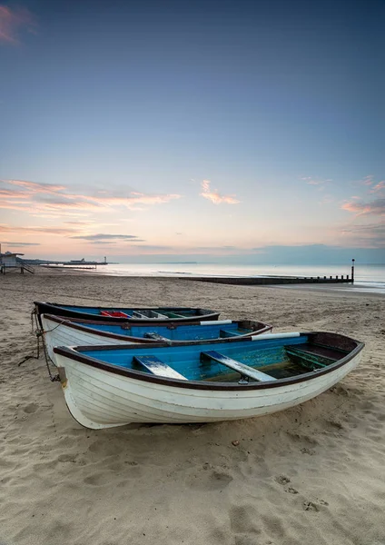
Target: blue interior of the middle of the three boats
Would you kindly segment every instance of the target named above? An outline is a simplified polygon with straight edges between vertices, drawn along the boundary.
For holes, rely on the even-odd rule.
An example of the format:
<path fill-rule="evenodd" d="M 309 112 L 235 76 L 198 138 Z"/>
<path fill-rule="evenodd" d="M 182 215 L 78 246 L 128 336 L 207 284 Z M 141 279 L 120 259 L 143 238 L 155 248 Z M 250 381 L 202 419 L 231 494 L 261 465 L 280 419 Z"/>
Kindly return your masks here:
<path fill-rule="evenodd" d="M 96 330 L 98 332 L 114 333 L 115 335 L 124 335 L 126 337 L 136 337 L 155 340 L 170 341 L 200 341 L 205 339 L 219 339 L 236 337 L 251 333 L 252 329 L 242 328 L 237 322 L 234 323 L 209 323 L 202 325 L 131 325 L 120 323 L 81 323 L 84 327 Z"/>

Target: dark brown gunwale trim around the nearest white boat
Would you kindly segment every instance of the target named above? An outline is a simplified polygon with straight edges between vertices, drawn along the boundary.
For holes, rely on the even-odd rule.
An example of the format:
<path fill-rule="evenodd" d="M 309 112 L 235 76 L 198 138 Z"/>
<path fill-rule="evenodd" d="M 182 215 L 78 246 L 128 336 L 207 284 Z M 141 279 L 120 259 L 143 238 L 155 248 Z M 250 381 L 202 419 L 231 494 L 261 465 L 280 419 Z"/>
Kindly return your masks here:
<path fill-rule="evenodd" d="M 121 375 L 126 378 L 135 379 L 137 381 L 145 381 L 145 382 L 155 382 L 156 384 L 163 384 L 166 386 L 173 386 L 176 388 L 190 388 L 192 390 L 262 390 L 265 388 L 279 388 L 281 386 L 288 386 L 290 384 L 297 384 L 299 382 L 312 380 L 315 378 L 320 377 L 321 375 L 327 374 L 329 372 L 333 372 L 336 369 L 339 369 L 343 365 L 346 365 L 349 363 L 357 354 L 360 353 L 360 351 L 365 346 L 364 342 L 355 341 L 353 339 L 350 339 L 350 337 L 345 337 L 344 335 L 340 335 L 339 333 L 329 333 L 329 332 L 302 332 L 301 336 L 308 336 L 311 342 L 319 342 L 319 341 L 331 341 L 333 339 L 332 348 L 341 350 L 341 353 L 346 353 L 346 348 L 343 348 L 345 346 L 350 346 L 350 352 L 346 354 L 341 360 L 338 362 L 332 363 L 331 365 L 328 365 L 328 367 L 323 367 L 319 370 L 307 372 L 302 374 L 301 376 L 295 377 L 295 378 L 287 378 L 287 379 L 278 379 L 276 381 L 271 382 L 255 382 L 255 383 L 249 383 L 249 384 L 238 384 L 238 383 L 229 383 L 229 382 L 209 382 L 209 381 L 182 381 L 178 379 L 164 379 L 163 377 L 158 377 L 155 375 L 147 374 L 140 371 L 135 371 L 133 369 L 127 369 L 123 367 L 119 367 L 117 365 L 113 365 L 111 363 L 101 362 L 100 360 L 96 360 L 90 356 L 85 356 L 83 354 L 80 354 L 77 351 L 81 350 L 90 350 L 90 346 L 76 346 L 74 348 L 67 348 L 65 346 L 58 346 L 54 348 L 54 353 L 60 354 L 64 357 L 67 357 L 71 360 L 74 360 L 75 362 L 81 362 L 85 363 L 86 365 L 90 365 L 91 367 L 94 367 L 96 369 L 101 369 L 106 372 L 111 372 L 113 374 Z M 252 342 L 252 339 L 249 337 L 246 337 L 243 339 L 243 342 Z M 232 337 L 229 339 L 223 339 L 222 342 L 237 342 L 237 339 Z M 256 341 L 258 342 L 258 341 Z M 196 344 L 207 344 L 207 341 L 203 342 L 197 342 Z M 177 344 L 173 344 L 173 346 L 177 346 Z M 170 345 L 165 342 L 153 342 L 152 348 L 170 348 Z M 147 346 L 145 345 L 134 345 L 134 344 L 119 344 L 117 346 L 110 345 L 110 346 L 93 346 L 92 350 L 147 350 Z"/>

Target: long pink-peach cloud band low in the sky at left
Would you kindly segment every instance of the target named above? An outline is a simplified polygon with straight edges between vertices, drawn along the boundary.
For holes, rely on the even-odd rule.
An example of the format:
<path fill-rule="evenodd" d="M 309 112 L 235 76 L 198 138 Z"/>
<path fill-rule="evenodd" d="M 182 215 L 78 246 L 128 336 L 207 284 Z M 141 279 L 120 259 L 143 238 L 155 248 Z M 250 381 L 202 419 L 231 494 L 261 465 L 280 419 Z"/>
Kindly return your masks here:
<path fill-rule="evenodd" d="M 70 193 L 64 185 L 25 180 L 0 180 L 0 208 L 34 215 L 60 215 L 107 212 L 116 207 L 140 211 L 144 207 L 169 203 L 181 198 L 176 193 Z"/>

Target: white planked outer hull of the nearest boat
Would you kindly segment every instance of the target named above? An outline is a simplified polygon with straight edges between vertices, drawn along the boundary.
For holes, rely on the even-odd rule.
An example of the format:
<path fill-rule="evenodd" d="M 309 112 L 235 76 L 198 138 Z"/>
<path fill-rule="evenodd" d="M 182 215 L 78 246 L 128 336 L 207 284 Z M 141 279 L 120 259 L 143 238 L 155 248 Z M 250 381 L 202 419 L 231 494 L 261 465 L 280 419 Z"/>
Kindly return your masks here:
<path fill-rule="evenodd" d="M 60 349 L 59 349 L 60 350 Z M 189 387 L 185 382 L 143 381 L 56 353 L 67 407 L 74 419 L 95 430 L 130 422 L 228 421 L 283 411 L 311 400 L 341 381 L 360 362 L 361 349 L 328 372 L 298 381 L 257 386 Z M 283 381 L 284 382 L 284 381 Z M 218 386 L 218 385 L 217 385 Z"/>

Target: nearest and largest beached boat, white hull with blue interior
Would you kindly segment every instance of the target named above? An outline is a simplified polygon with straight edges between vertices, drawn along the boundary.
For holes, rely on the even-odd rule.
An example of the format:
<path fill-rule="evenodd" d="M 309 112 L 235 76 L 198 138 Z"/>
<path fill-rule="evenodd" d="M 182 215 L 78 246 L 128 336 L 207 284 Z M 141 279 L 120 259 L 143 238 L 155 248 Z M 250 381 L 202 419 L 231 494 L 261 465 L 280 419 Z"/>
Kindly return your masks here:
<path fill-rule="evenodd" d="M 293 407 L 360 362 L 362 342 L 281 333 L 221 343 L 56 347 L 67 407 L 86 428 L 242 419 Z"/>

